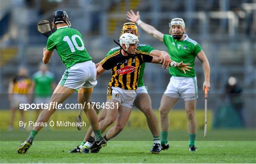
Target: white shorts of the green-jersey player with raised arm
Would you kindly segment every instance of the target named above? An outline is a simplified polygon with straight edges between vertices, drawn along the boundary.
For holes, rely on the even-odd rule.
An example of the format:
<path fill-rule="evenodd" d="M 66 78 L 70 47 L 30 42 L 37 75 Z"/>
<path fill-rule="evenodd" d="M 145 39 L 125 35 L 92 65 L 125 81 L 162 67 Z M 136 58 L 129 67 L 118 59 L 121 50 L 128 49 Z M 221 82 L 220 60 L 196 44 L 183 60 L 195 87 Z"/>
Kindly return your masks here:
<path fill-rule="evenodd" d="M 197 80 L 195 77 L 172 76 L 164 93 L 172 98 L 182 98 L 184 101 L 194 100 L 197 95 Z"/>

